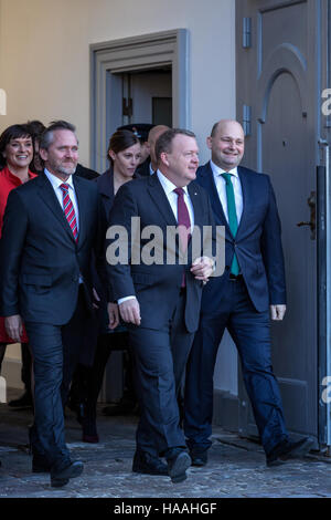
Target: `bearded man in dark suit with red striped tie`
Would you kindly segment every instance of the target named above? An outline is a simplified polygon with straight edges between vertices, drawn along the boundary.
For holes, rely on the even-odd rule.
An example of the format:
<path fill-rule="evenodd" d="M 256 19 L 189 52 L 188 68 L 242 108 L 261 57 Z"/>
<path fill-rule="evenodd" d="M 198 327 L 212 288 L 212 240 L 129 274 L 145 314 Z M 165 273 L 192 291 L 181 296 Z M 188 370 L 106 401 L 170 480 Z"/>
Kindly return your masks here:
<path fill-rule="evenodd" d="M 33 470 L 50 471 L 61 487 L 83 471 L 64 438 L 63 403 L 93 312 L 90 258 L 103 274 L 104 232 L 97 187 L 73 176 L 78 160 L 75 127 L 53 123 L 42 135 L 44 173 L 12 191 L 1 239 L 1 309 L 11 337 L 25 323 L 34 363 Z M 82 355 L 83 354 L 83 355 Z M 90 362 L 92 360 L 89 360 Z"/>

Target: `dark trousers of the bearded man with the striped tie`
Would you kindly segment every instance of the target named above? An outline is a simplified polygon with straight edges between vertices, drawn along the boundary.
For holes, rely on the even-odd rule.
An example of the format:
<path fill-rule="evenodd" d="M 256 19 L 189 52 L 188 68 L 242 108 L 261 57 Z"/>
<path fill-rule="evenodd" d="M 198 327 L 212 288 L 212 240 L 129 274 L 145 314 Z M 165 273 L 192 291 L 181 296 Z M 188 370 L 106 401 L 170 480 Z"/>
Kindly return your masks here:
<path fill-rule="evenodd" d="M 73 372 L 79 360 L 82 323 L 87 319 L 81 294 L 71 321 L 65 325 L 25 323 L 34 368 L 34 425 L 32 451 L 60 470 L 71 462 L 65 444 L 64 404 Z"/>

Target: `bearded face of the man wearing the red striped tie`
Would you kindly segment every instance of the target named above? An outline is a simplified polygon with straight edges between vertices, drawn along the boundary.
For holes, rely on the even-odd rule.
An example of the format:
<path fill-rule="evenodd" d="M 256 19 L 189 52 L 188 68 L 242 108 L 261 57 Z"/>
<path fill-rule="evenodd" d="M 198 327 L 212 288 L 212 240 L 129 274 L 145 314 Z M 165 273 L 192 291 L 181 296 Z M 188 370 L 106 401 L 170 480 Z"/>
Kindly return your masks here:
<path fill-rule="evenodd" d="M 78 144 L 76 136 L 68 129 L 54 131 L 53 143 L 47 149 L 40 149 L 45 167 L 51 174 L 63 179 L 76 171 Z"/>

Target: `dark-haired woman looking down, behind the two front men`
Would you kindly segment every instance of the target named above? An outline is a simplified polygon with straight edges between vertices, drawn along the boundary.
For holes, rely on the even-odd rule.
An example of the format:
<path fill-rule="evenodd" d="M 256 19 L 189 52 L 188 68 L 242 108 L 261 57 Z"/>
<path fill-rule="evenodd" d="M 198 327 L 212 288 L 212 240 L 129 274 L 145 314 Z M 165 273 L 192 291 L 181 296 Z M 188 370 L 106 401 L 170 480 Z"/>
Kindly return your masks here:
<path fill-rule="evenodd" d="M 120 186 L 135 178 L 135 171 L 140 162 L 140 146 L 139 138 L 129 131 L 117 131 L 110 137 L 107 150 L 110 167 L 96 179 L 103 200 L 103 218 L 105 218 L 106 223 L 109 219 L 116 193 Z M 110 352 L 111 350 L 126 347 L 128 344 L 125 329 L 117 326 L 119 323 L 117 304 L 110 303 L 108 308 L 109 315 L 111 316 L 110 330 L 106 308 L 107 294 L 104 293 L 104 288 L 100 287 L 98 280 L 95 280 L 95 287 L 102 301 L 99 304 L 100 326 L 94 365 L 92 368 L 79 365 L 75 373 L 71 393 L 72 402 L 81 402 L 81 417 L 78 413 L 78 420 L 82 423 L 83 440 L 86 443 L 98 443 L 96 404 Z"/>

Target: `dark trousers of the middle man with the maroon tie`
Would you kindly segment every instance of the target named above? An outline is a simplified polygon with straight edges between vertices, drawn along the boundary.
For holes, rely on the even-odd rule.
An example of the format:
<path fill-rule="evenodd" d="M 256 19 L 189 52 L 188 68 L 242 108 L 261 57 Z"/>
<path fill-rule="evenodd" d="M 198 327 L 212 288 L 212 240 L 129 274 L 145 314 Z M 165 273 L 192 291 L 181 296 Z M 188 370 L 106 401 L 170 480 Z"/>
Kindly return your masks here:
<path fill-rule="evenodd" d="M 153 456 L 174 447 L 185 447 L 180 427 L 178 399 L 193 341 L 184 325 L 185 294 L 163 330 L 131 326 L 130 345 L 136 361 L 136 387 L 140 404 L 137 448 Z"/>

